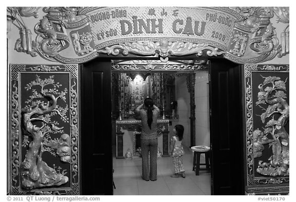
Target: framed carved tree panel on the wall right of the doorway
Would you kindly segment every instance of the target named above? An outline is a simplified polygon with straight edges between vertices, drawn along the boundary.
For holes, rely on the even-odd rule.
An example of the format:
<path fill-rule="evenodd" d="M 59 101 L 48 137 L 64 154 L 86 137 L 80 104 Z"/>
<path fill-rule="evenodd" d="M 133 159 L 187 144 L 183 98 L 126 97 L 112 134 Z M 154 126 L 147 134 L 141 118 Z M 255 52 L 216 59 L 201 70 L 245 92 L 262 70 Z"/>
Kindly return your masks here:
<path fill-rule="evenodd" d="M 247 193 L 289 192 L 289 65 L 245 65 Z"/>

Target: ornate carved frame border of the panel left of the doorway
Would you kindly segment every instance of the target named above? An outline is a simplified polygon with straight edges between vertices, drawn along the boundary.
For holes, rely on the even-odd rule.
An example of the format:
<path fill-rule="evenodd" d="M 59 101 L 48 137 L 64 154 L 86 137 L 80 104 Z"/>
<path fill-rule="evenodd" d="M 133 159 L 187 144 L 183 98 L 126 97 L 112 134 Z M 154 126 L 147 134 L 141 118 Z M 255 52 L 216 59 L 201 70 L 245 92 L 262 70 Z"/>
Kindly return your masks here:
<path fill-rule="evenodd" d="M 21 159 L 21 74 L 69 74 L 70 188 L 55 187 L 24 190 L 20 185 Z M 11 64 L 9 71 L 9 176 L 11 195 L 80 195 L 78 65 Z"/>

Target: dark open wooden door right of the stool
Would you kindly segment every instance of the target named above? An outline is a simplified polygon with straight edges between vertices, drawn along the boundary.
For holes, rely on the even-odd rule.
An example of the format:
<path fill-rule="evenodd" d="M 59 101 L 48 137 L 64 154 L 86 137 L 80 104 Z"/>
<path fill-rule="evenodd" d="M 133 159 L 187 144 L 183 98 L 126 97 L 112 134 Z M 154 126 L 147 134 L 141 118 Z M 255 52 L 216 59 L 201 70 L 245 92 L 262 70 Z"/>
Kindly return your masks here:
<path fill-rule="evenodd" d="M 243 66 L 210 61 L 212 195 L 244 194 Z"/>

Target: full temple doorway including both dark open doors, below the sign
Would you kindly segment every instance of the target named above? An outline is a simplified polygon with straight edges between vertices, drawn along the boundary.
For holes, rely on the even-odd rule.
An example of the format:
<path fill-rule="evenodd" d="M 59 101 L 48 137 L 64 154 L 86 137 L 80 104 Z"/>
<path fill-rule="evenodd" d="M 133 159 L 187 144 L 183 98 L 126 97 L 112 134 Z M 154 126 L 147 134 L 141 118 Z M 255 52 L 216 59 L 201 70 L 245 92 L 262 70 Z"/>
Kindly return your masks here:
<path fill-rule="evenodd" d="M 139 104 L 136 96 L 138 96 L 138 93 L 140 95 L 145 92 L 145 96 L 149 95 L 153 97 L 156 95 L 156 103 L 158 103 L 161 109 L 158 131 L 160 137 L 158 141 L 158 173 L 160 177 L 157 180 L 157 183 L 160 185 L 158 187 L 154 186 L 154 184 L 153 186 L 152 184 L 145 184 L 143 186 L 155 187 L 152 190 L 155 194 L 159 194 L 159 192 L 162 195 L 164 193 L 168 195 L 175 194 L 174 191 L 171 191 L 174 190 L 173 187 L 167 186 L 167 191 L 164 192 L 162 185 L 173 184 L 171 183 L 172 181 L 165 182 L 164 178 L 172 180 L 170 174 L 172 174 L 173 165 L 171 157 L 168 157 L 169 142 L 172 136 L 170 131 L 176 122 L 178 122 L 186 125 L 188 134 L 184 137 L 183 141 L 184 145 L 186 145 L 185 147 L 188 148 L 187 156 L 185 155 L 185 159 L 188 158 L 188 164 L 184 163 L 187 176 L 186 178 L 177 178 L 178 180 L 180 179 L 178 182 L 186 183 L 187 180 L 192 179 L 190 178 L 191 174 L 197 182 L 208 180 L 208 185 L 206 186 L 209 187 L 209 189 L 201 189 L 199 187 L 198 189 L 183 192 L 182 194 L 244 194 L 243 171 L 235 169 L 234 166 L 235 164 L 238 165 L 237 168 L 244 168 L 244 128 L 242 123 L 244 117 L 243 106 L 245 105 L 242 103 L 242 92 L 244 88 L 241 81 L 243 78 L 241 76 L 243 66 L 239 66 L 226 59 L 218 58 L 205 60 L 205 62 L 201 60 L 187 59 L 182 61 L 179 58 L 175 59 L 171 62 L 178 64 L 148 64 L 147 60 L 140 61 L 137 64 L 124 64 L 126 61 L 112 61 L 107 58 L 96 59 L 81 65 L 80 122 L 81 151 L 83 151 L 81 154 L 83 195 L 148 194 L 139 192 L 139 187 L 135 187 L 138 185 L 142 186 L 142 183 L 146 182 L 140 177 L 141 157 L 137 156 L 137 154 L 140 154 L 137 146 L 137 136 L 140 128 L 137 126 L 139 120 L 133 114 L 133 107 L 135 108 Z M 195 68 L 192 69 L 193 65 L 206 67 L 205 69 L 197 69 L 196 71 Z M 184 70 L 182 68 L 188 69 Z M 136 78 L 138 76 L 137 74 L 141 77 Z M 172 74 L 175 74 L 175 76 L 172 77 Z M 207 138 L 198 139 L 198 133 L 200 131 L 202 132 L 202 128 L 196 129 L 199 123 L 196 116 L 198 114 L 197 108 L 202 106 L 201 103 L 196 101 L 196 98 L 200 95 L 200 93 L 197 93 L 197 86 L 199 86 L 197 78 L 198 76 L 199 79 L 202 78 L 202 74 L 204 74 L 204 79 L 206 75 L 208 76 L 205 81 L 200 82 L 203 82 L 207 86 L 205 88 L 208 90 L 207 99 L 209 104 L 201 108 L 208 108 L 208 116 L 205 117 L 208 120 L 210 128 L 208 132 L 210 135 L 207 136 L 210 139 L 209 141 Z M 171 85 L 172 83 L 163 82 L 165 78 L 170 78 L 169 76 L 172 79 L 167 79 L 167 81 L 174 79 L 175 89 Z M 132 81 L 133 78 L 134 81 Z M 123 81 L 123 83 L 114 82 L 116 79 Z M 137 79 L 139 79 L 140 83 L 142 82 L 142 87 L 138 85 L 138 89 L 133 88 L 131 85 L 133 83 L 135 84 Z M 153 82 L 147 85 L 149 80 Z M 164 87 L 162 84 L 167 86 Z M 166 90 L 161 88 L 165 88 Z M 118 89 L 120 89 L 120 96 L 115 96 L 115 92 L 118 92 Z M 131 96 L 134 96 L 133 99 Z M 124 100 L 123 102 L 122 99 Z M 128 102 L 128 100 L 131 102 Z M 119 103 L 121 105 L 120 107 Z M 128 104 L 126 105 L 126 103 Z M 181 106 L 183 107 L 181 108 Z M 172 110 L 174 107 L 176 107 L 175 113 Z M 173 117 L 175 117 L 174 120 Z M 128 121 L 125 121 L 125 119 L 128 119 Z M 132 119 L 134 119 L 133 126 L 131 126 Z M 201 126 L 205 126 L 205 124 L 201 124 Z M 194 133 L 195 135 L 193 136 L 192 134 Z M 206 132 L 202 134 L 206 134 Z M 207 146 L 207 141 L 210 143 L 210 148 L 212 149 L 211 170 L 210 172 L 207 170 L 200 171 L 199 175 L 195 175 L 194 171 L 192 171 L 193 153 L 189 148 L 192 146 Z M 130 149 L 130 153 L 128 153 L 128 149 Z M 133 159 L 126 158 L 130 156 Z M 133 165 L 133 163 L 138 164 Z M 162 164 L 162 168 L 160 166 L 161 163 L 164 163 Z M 126 169 L 123 169 L 124 166 Z M 208 178 L 202 179 L 203 175 L 201 172 L 205 172 Z M 117 174 L 123 174 L 122 182 L 116 179 L 116 177 L 120 177 Z M 131 176 L 134 176 L 134 181 L 131 180 Z M 149 181 L 148 183 L 151 182 Z M 194 181 L 192 183 L 196 185 Z M 120 187 L 126 188 L 125 191 L 120 192 Z M 130 190 L 130 192 L 127 190 Z M 138 190 L 138 193 L 132 192 L 135 190 Z"/>

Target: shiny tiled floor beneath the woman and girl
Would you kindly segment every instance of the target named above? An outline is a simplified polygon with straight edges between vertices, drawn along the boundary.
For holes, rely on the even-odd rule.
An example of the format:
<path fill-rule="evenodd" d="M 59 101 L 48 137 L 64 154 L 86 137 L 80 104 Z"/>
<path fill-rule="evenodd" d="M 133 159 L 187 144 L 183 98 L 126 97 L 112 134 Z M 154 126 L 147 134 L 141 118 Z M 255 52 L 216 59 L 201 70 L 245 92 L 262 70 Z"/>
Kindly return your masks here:
<path fill-rule="evenodd" d="M 205 161 L 204 156 L 200 157 Z M 210 172 L 201 170 L 199 175 L 192 171 L 193 153 L 186 151 L 183 158 L 186 178 L 170 177 L 174 173 L 172 157 L 157 159 L 157 180 L 141 178 L 141 158 L 113 159 L 114 195 L 211 195 Z"/>

